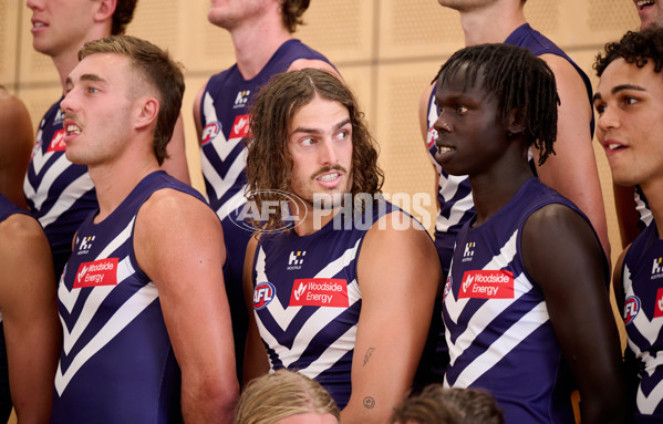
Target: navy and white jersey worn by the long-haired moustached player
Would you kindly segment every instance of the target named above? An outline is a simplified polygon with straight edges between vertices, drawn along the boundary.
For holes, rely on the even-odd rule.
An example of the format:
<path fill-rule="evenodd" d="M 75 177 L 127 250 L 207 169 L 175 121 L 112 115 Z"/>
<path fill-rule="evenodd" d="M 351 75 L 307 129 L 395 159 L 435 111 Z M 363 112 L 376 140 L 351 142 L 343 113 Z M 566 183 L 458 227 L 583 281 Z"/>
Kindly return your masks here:
<path fill-rule="evenodd" d="M 366 231 L 397 210 L 384 199 L 363 214 L 336 214 L 320 230 L 260 238 L 253 259 L 253 313 L 271 370 L 317 380 L 345 407 L 362 293 L 356 259 Z M 350 218 L 350 219 L 349 219 Z"/>

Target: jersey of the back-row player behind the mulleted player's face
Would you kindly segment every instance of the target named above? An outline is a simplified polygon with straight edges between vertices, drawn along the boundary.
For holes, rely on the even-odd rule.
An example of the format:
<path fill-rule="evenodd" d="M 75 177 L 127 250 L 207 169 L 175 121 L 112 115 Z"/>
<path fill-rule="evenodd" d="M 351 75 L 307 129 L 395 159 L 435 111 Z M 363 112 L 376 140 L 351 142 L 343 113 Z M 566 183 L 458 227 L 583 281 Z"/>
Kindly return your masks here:
<path fill-rule="evenodd" d="M 97 207 L 87 166 L 74 165 L 64 156 L 61 101 L 41 120 L 23 180 L 30 211 L 39 219 L 51 245 L 55 278 L 60 278 L 71 255 L 74 232 Z"/>

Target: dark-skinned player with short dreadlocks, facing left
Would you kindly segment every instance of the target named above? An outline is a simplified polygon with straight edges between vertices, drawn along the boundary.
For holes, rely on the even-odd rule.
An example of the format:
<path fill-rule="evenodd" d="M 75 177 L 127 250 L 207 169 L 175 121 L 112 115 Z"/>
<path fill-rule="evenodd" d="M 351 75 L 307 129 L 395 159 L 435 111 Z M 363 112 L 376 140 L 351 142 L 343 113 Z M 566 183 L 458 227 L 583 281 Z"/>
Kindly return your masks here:
<path fill-rule="evenodd" d="M 436 159 L 467 175 L 475 215 L 444 289 L 445 386 L 484 387 L 509 423 L 622 423 L 624 379 L 608 259 L 589 219 L 533 177 L 553 153 L 555 74 L 508 44 L 463 49 L 442 66 Z"/>

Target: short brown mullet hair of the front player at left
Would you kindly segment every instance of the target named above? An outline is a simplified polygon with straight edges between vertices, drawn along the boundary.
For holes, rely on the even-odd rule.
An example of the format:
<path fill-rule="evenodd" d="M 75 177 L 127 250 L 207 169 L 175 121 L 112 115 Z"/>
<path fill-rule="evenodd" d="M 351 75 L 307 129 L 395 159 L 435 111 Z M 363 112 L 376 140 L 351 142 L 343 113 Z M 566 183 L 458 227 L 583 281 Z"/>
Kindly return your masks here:
<path fill-rule="evenodd" d="M 113 53 L 128 58 L 141 82 L 156 93 L 159 111 L 154 128 L 154 154 L 162 165 L 168 157 L 166 146 L 173 136 L 173 128 L 182 108 L 182 65 L 170 59 L 167 51 L 131 35 L 114 35 L 85 43 L 79 52 L 79 60 L 96 53 Z"/>

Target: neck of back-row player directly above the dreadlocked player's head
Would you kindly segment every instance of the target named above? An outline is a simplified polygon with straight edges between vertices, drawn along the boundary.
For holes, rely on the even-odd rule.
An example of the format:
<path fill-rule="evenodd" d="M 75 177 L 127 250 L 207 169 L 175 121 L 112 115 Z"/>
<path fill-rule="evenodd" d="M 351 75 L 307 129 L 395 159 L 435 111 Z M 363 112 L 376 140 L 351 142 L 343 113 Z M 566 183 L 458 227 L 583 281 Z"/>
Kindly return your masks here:
<path fill-rule="evenodd" d="M 496 1 L 460 12 L 465 45 L 503 43 L 515 29 L 527 23 L 519 1 Z"/>

